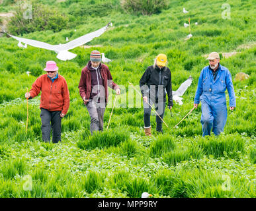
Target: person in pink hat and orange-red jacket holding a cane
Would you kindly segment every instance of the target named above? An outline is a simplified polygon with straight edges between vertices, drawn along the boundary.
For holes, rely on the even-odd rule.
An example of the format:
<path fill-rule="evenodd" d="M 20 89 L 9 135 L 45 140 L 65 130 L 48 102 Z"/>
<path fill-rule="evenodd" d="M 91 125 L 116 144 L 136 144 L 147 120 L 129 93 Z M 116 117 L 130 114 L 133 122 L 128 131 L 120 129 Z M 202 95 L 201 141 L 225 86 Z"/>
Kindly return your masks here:
<path fill-rule="evenodd" d="M 50 142 L 50 132 L 52 128 L 52 142 L 61 141 L 62 118 L 69 108 L 69 90 L 65 78 L 58 74 L 56 62 L 47 61 L 46 74 L 39 76 L 32 84 L 25 98 L 32 99 L 41 93 L 40 117 L 42 140 Z"/>

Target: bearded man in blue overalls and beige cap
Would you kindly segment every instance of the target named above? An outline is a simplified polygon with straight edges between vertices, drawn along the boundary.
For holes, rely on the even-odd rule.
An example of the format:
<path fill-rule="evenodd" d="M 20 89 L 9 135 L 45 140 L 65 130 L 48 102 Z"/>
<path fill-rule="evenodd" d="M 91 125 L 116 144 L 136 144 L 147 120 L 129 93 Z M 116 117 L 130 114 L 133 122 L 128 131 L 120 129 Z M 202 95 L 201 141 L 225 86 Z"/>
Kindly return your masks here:
<path fill-rule="evenodd" d="M 230 96 L 230 110 L 235 108 L 235 91 L 230 71 L 220 65 L 219 54 L 212 52 L 207 59 L 209 66 L 200 73 L 194 107 L 202 102 L 202 136 L 210 136 L 211 130 L 218 136 L 224 131 L 228 116 L 225 91 L 228 90 Z"/>

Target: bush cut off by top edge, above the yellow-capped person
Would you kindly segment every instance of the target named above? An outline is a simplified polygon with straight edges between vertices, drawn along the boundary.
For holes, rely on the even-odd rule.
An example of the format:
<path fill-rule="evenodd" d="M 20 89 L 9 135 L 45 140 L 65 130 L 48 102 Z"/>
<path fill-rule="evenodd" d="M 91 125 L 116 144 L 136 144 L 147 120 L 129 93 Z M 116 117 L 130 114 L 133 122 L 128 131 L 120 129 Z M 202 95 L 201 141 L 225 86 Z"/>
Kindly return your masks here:
<path fill-rule="evenodd" d="M 166 0 L 124 0 L 122 7 L 128 13 L 137 15 L 153 15 L 161 13 L 162 9 L 167 9 L 168 1 Z"/>

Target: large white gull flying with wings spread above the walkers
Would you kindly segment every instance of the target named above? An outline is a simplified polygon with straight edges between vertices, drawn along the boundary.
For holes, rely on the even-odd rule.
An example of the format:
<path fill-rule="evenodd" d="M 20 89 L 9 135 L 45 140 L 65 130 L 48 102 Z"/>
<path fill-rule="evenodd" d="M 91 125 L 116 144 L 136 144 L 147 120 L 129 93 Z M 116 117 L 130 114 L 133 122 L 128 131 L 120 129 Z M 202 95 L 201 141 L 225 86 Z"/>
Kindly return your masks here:
<path fill-rule="evenodd" d="M 95 32 L 85 34 L 79 38 L 76 38 L 75 40 L 71 40 L 70 42 L 67 42 L 66 44 L 60 44 L 60 45 L 51 45 L 51 44 L 47 44 L 45 42 L 40 42 L 37 40 L 29 40 L 26 38 L 19 38 L 19 37 L 13 36 L 11 34 L 7 34 L 7 35 L 11 36 L 15 40 L 18 40 L 19 47 L 22 42 L 24 44 L 28 44 L 28 45 L 31 45 L 34 47 L 40 47 L 40 48 L 48 49 L 51 51 L 55 51 L 56 53 L 58 53 L 58 55 L 57 55 L 58 59 L 66 61 L 66 60 L 73 59 L 77 56 L 75 53 L 71 53 L 68 50 L 78 47 L 80 45 L 86 44 L 87 42 L 90 42 L 91 40 L 93 40 L 93 38 L 97 38 L 97 37 L 101 36 L 101 34 L 103 34 L 107 30 L 109 24 L 110 24 L 110 22 L 108 22 L 107 26 L 104 26 L 103 28 L 100 28 L 99 30 L 97 30 Z M 4 31 L 4 33 L 7 33 L 7 32 Z"/>

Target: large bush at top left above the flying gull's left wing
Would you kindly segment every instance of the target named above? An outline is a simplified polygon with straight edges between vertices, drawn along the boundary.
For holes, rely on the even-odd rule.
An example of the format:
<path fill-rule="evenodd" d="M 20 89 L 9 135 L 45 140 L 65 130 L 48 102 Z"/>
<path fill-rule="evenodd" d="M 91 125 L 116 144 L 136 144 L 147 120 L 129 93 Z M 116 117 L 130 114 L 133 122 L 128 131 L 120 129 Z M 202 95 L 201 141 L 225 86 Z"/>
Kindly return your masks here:
<path fill-rule="evenodd" d="M 30 32 L 52 30 L 60 32 L 67 27 L 68 18 L 57 9 L 32 3 L 31 8 L 18 5 L 16 13 L 7 24 L 11 34 L 27 34 Z"/>

